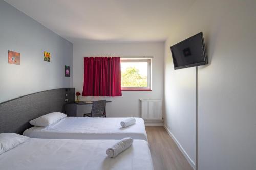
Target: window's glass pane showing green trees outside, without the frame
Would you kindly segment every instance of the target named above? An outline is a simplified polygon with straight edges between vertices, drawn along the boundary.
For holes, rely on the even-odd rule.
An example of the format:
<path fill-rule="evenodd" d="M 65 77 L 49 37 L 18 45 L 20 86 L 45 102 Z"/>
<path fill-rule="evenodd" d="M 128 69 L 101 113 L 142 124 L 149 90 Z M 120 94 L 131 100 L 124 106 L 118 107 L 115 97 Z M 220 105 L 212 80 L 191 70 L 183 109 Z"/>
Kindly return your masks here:
<path fill-rule="evenodd" d="M 147 62 L 121 62 L 122 87 L 147 87 Z"/>

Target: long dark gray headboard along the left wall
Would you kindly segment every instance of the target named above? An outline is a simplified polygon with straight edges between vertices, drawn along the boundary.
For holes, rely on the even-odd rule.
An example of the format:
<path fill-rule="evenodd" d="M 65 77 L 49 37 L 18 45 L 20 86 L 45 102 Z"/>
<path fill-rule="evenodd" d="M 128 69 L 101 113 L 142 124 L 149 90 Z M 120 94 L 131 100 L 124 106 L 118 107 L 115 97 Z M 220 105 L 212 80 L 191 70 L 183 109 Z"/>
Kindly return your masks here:
<path fill-rule="evenodd" d="M 66 98 L 68 102 L 65 102 Z M 55 111 L 63 112 L 64 104 L 74 100 L 75 88 L 60 88 L 0 103 L 0 133 L 22 134 L 31 127 L 30 120 Z"/>

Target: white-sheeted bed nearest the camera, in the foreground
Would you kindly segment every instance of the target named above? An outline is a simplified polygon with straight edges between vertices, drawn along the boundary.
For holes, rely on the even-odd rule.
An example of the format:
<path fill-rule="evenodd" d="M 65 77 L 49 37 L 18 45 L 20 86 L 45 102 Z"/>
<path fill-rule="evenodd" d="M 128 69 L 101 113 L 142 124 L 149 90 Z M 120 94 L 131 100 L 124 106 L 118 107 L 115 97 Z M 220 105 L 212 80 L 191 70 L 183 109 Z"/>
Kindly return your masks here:
<path fill-rule="evenodd" d="M 116 158 L 106 149 L 117 140 L 29 139 L 0 155 L 1 169 L 153 169 L 148 143 L 134 140 Z"/>

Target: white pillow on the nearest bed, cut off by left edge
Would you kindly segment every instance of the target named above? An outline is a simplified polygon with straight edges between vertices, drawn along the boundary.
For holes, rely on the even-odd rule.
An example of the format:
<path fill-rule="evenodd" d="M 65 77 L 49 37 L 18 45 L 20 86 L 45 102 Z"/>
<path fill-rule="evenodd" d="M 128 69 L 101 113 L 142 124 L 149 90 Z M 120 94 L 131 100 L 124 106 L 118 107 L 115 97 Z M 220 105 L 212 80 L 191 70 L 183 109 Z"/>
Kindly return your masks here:
<path fill-rule="evenodd" d="M 16 133 L 0 133 L 0 154 L 17 147 L 29 140 L 29 137 L 22 136 Z"/>

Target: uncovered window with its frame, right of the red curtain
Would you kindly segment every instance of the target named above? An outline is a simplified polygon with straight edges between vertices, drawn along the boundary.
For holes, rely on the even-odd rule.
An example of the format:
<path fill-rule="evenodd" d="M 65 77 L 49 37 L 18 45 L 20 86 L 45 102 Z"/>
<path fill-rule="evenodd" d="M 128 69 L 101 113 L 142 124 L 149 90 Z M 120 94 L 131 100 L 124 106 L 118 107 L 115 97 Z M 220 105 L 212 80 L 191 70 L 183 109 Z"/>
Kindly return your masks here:
<path fill-rule="evenodd" d="M 150 91 L 151 59 L 121 58 L 121 87 L 127 91 Z"/>

